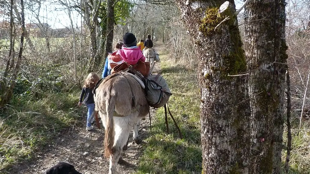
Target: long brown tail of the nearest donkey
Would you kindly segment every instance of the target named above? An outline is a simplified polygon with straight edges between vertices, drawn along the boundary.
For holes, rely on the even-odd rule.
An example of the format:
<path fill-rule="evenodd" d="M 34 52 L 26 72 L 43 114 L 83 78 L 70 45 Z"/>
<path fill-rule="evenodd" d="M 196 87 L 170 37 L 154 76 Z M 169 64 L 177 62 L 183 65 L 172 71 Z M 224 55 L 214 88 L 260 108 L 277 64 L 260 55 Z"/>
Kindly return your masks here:
<path fill-rule="evenodd" d="M 104 155 L 108 159 L 112 154 L 112 148 L 114 144 L 114 123 L 113 123 L 113 112 L 114 112 L 114 96 L 111 93 L 112 88 L 109 89 L 108 99 L 106 100 L 107 109 L 107 128 L 104 136 Z"/>

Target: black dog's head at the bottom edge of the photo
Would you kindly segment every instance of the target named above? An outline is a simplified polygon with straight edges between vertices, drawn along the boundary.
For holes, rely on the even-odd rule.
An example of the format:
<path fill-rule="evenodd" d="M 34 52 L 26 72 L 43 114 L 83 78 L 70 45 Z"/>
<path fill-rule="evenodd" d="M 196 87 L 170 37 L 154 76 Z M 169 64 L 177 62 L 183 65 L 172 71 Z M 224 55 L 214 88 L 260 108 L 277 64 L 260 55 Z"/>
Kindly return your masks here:
<path fill-rule="evenodd" d="M 67 162 L 59 162 L 49 168 L 44 174 L 82 174 L 74 169 L 74 166 Z"/>

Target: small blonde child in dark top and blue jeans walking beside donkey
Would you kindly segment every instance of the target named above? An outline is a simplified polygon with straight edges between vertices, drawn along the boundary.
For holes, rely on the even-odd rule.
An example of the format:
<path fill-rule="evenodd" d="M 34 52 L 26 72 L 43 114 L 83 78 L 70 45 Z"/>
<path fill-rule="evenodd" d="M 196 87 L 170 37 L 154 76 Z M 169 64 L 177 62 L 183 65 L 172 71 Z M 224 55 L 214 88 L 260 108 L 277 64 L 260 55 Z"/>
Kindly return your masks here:
<path fill-rule="evenodd" d="M 91 72 L 88 74 L 87 78 L 84 80 L 82 93 L 78 103 L 79 106 L 85 104 L 87 107 L 86 130 L 91 130 L 94 128 L 94 126 L 91 125 L 91 123 L 95 120 L 94 117 L 91 118 L 91 114 L 95 108 L 94 94 L 92 91 L 98 81 L 99 76 L 96 73 Z"/>

